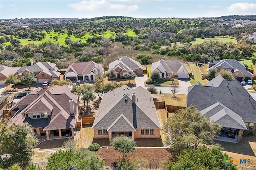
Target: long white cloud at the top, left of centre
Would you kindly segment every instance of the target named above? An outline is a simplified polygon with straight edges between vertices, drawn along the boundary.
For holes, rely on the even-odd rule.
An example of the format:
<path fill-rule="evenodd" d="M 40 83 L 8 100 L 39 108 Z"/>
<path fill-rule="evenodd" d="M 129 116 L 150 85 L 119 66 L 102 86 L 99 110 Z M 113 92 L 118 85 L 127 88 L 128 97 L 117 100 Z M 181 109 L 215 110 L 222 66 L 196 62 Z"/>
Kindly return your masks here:
<path fill-rule="evenodd" d="M 78 12 L 132 12 L 139 9 L 137 5 L 110 4 L 106 0 L 85 0 L 68 6 Z"/>

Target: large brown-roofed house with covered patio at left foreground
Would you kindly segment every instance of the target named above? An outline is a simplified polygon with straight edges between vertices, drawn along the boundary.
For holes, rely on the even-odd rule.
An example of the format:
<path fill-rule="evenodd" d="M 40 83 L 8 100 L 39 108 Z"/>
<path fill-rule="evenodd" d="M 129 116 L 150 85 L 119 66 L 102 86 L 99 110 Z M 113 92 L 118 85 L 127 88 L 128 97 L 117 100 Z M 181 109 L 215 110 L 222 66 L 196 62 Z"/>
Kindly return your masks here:
<path fill-rule="evenodd" d="M 74 136 L 78 107 L 78 95 L 69 87 L 38 87 L 9 110 L 9 125 L 28 123 L 38 136 L 46 135 L 47 139 Z"/>

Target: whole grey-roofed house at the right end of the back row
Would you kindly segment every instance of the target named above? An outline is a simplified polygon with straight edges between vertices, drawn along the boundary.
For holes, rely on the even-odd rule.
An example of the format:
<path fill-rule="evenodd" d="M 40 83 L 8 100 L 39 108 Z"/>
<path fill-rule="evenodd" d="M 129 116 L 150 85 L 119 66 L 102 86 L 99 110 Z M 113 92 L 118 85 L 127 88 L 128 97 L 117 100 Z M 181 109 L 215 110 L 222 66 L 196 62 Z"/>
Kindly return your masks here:
<path fill-rule="evenodd" d="M 234 77 L 238 81 L 248 81 L 249 79 L 252 80 L 253 78 L 252 73 L 247 71 L 246 67 L 236 59 L 222 59 L 220 61 L 209 61 L 207 71 L 209 71 L 212 68 L 215 68 L 217 70 L 229 70 L 232 72 L 232 75 L 234 75 Z"/>

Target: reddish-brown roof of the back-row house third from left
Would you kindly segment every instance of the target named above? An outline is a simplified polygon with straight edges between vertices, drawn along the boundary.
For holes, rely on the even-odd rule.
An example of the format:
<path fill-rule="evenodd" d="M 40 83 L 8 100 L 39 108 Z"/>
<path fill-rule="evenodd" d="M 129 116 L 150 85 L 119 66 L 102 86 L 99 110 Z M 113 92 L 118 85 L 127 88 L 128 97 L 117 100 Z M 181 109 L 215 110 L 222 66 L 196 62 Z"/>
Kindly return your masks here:
<path fill-rule="evenodd" d="M 103 67 L 101 64 L 97 64 L 93 61 L 90 61 L 90 62 L 78 62 L 78 63 L 73 63 L 72 65 L 69 65 L 64 75 L 66 75 L 66 73 L 69 73 L 69 72 L 74 72 L 77 75 L 86 75 L 86 74 L 90 74 L 92 72 L 92 69 L 94 68 L 99 69 L 99 71 L 103 73 Z"/>

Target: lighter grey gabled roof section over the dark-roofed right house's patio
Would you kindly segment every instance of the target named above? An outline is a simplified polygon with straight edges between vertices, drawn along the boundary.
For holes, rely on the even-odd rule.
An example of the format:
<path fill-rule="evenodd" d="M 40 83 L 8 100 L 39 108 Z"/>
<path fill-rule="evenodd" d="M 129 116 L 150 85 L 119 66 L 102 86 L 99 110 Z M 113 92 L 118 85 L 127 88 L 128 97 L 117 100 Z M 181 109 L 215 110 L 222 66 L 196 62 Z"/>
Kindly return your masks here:
<path fill-rule="evenodd" d="M 222 127 L 247 130 L 242 117 L 220 102 L 214 103 L 200 111 L 200 113 Z"/>

